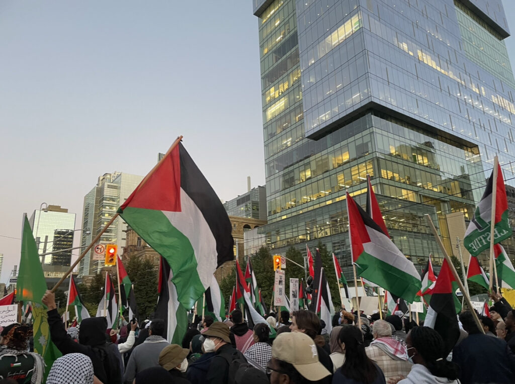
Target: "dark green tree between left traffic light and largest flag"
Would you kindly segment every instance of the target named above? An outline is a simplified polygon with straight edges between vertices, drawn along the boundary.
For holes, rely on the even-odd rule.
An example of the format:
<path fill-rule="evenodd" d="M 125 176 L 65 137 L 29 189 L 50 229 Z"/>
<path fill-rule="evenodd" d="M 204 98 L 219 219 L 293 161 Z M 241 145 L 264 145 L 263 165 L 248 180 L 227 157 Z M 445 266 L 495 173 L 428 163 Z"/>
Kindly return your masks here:
<path fill-rule="evenodd" d="M 140 321 L 155 311 L 158 301 L 158 270 L 151 261 L 141 257 L 131 257 L 125 264 L 125 270 L 134 284 L 136 306 Z"/>

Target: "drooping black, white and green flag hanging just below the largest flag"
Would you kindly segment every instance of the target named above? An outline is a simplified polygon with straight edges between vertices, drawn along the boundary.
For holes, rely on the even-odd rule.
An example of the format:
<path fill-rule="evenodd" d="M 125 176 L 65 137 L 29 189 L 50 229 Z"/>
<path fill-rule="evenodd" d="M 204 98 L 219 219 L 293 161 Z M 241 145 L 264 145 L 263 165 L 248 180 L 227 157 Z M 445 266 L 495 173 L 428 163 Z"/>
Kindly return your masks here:
<path fill-rule="evenodd" d="M 181 345 L 188 328 L 187 311 L 177 298 L 177 289 L 173 283 L 170 266 L 163 256 L 159 260 L 159 296 L 154 318 L 164 320 L 163 338 L 171 344 Z"/>

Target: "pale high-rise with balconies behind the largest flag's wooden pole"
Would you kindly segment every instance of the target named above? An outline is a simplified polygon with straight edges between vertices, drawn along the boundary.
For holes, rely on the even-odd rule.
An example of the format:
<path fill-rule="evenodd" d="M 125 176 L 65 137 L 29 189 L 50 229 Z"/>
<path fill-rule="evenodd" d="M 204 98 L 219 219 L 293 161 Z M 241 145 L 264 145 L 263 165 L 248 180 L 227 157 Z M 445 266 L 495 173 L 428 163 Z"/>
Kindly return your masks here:
<path fill-rule="evenodd" d="M 91 233 L 83 232 L 81 246 L 91 243 L 142 180 L 142 176 L 123 172 L 105 173 L 98 178 L 97 184 L 84 196 L 82 228 L 91 228 Z M 121 253 L 125 247 L 126 229 L 127 224 L 118 217 L 100 236 L 98 243 L 116 244 Z M 79 262 L 79 276 L 98 273 L 104 267 L 104 261 L 104 257 L 95 260 L 92 249 Z"/>

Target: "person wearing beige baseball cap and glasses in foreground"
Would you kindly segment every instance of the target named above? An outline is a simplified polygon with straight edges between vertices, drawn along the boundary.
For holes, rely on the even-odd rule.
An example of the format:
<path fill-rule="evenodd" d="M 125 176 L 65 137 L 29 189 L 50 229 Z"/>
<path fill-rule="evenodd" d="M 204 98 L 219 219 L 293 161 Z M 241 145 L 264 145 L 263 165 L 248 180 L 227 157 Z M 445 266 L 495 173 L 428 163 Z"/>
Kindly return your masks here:
<path fill-rule="evenodd" d="M 331 382 L 331 371 L 320 363 L 313 339 L 300 332 L 277 336 L 266 373 L 270 384 Z"/>

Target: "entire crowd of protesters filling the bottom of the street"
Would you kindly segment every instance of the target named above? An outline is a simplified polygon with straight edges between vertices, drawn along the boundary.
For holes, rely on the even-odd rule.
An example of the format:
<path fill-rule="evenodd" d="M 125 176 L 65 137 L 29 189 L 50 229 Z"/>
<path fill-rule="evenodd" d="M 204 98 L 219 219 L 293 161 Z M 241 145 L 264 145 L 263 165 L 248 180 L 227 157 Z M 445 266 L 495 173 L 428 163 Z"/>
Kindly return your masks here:
<path fill-rule="evenodd" d="M 492 299 L 490 316 L 479 317 L 483 330 L 472 312 L 460 313 L 461 335 L 447 354 L 437 331 L 402 312 L 382 320 L 342 309 L 331 327 L 309 310 L 272 312 L 250 329 L 236 309 L 224 322 L 192 319 L 182 345 L 163 338 L 163 319 L 125 323 L 118 332 L 96 317 L 66 329 L 47 291 L 50 337 L 63 356 L 46 383 L 515 383 L 515 310 L 500 294 Z M 24 324 L 2 329 L 0 384 L 45 382 L 31 336 Z"/>

